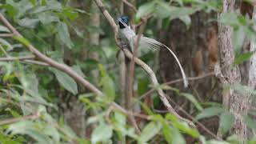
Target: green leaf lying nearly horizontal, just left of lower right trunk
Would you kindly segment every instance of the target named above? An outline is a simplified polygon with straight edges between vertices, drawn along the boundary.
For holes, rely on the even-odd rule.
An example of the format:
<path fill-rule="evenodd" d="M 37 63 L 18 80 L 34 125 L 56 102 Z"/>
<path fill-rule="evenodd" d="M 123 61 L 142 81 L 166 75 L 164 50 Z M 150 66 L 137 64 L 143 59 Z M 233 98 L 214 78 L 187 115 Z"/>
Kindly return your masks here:
<path fill-rule="evenodd" d="M 198 119 L 202 119 L 202 118 L 209 118 L 214 115 L 218 115 L 224 111 L 225 110 L 222 107 L 209 107 L 209 108 L 202 110 L 202 112 L 196 116 L 196 119 L 198 120 Z"/>

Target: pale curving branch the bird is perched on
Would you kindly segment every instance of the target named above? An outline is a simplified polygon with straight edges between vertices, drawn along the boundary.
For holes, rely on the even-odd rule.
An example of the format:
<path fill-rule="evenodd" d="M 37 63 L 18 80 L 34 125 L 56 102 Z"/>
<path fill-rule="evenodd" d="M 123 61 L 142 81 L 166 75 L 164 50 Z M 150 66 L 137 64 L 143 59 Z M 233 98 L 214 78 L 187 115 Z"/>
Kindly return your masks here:
<path fill-rule="evenodd" d="M 115 37 L 115 42 L 116 42 L 117 46 L 126 54 L 127 58 L 130 58 L 130 60 L 132 60 L 134 58 L 133 54 L 131 54 L 129 50 L 123 48 L 123 46 L 121 45 L 121 41 L 118 38 L 118 26 L 114 22 L 114 18 L 111 17 L 110 13 L 106 10 L 106 7 L 103 5 L 101 0 L 94 0 L 94 2 L 97 4 L 98 8 L 102 11 L 102 14 L 106 18 L 106 20 L 110 23 L 110 26 L 111 26 L 112 30 L 114 31 L 114 37 Z M 154 71 L 150 68 L 150 66 L 147 66 L 146 63 L 142 62 L 142 60 L 140 60 L 139 58 L 134 58 L 134 62 L 138 66 L 141 66 L 142 69 L 145 70 L 146 73 L 150 75 L 150 79 L 153 82 L 153 85 L 158 87 L 157 90 L 158 90 L 159 97 L 162 100 L 164 106 L 166 106 L 166 109 L 171 114 L 174 114 L 178 119 L 187 122 L 190 126 L 195 127 L 193 122 L 191 122 L 189 119 L 182 118 L 180 115 L 178 115 L 175 112 L 174 108 L 172 106 L 170 106 L 170 103 L 168 102 L 166 95 L 164 94 L 162 89 L 159 88 L 158 80 L 154 74 Z"/>

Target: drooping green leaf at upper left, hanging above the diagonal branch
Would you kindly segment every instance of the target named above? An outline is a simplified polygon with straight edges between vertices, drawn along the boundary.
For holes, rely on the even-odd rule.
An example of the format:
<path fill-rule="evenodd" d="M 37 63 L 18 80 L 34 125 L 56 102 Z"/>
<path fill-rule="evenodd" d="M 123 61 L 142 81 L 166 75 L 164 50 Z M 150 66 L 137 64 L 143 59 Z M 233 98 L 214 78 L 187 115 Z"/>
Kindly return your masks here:
<path fill-rule="evenodd" d="M 73 42 L 70 39 L 70 32 L 68 30 L 68 27 L 66 26 L 66 23 L 64 22 L 58 22 L 57 25 L 58 30 L 58 38 L 70 49 L 72 46 L 74 46 Z"/>

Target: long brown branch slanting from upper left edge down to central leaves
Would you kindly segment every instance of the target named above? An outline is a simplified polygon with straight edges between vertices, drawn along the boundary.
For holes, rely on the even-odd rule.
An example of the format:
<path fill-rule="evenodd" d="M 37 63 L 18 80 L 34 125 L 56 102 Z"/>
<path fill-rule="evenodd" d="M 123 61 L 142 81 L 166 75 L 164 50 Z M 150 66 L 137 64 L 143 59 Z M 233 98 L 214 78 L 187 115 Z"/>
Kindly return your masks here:
<path fill-rule="evenodd" d="M 69 66 L 66 66 L 65 64 L 62 64 L 62 63 L 58 63 L 53 59 L 48 58 L 46 55 L 38 51 L 32 44 L 27 42 L 22 42 L 21 40 L 19 40 L 19 38 L 23 38 L 22 34 L 19 34 L 18 31 L 14 28 L 14 26 L 12 26 L 10 22 L 8 22 L 8 20 L 1 13 L 0 13 L 0 21 L 2 21 L 2 23 L 14 34 L 16 38 L 15 37 L 13 38 L 21 42 L 23 45 L 25 45 L 42 62 L 46 62 L 50 66 L 53 66 L 54 68 L 61 70 L 66 74 L 69 74 L 71 78 L 74 78 L 74 80 L 76 80 L 77 82 L 80 82 L 88 90 L 94 92 L 95 94 L 102 95 L 102 91 L 98 90 L 97 87 L 92 85 L 85 78 L 82 78 L 78 73 L 72 70 Z"/>

